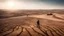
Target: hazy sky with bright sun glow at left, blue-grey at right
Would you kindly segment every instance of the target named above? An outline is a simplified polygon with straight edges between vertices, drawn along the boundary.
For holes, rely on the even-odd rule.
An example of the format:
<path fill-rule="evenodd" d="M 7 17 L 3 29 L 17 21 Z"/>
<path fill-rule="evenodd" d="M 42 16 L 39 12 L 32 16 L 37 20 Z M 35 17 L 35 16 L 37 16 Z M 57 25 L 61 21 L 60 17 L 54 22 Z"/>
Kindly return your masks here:
<path fill-rule="evenodd" d="M 64 9 L 64 0 L 0 0 L 0 9 Z"/>

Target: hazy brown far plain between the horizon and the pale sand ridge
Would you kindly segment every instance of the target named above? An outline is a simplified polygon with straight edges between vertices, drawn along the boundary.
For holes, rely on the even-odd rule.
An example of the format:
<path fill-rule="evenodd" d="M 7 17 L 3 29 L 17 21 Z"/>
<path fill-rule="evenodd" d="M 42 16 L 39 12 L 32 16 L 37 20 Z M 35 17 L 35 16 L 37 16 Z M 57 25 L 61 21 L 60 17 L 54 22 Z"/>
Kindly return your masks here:
<path fill-rule="evenodd" d="M 0 10 L 0 18 L 17 17 L 24 15 L 41 15 L 47 13 L 64 14 L 64 10 Z"/>

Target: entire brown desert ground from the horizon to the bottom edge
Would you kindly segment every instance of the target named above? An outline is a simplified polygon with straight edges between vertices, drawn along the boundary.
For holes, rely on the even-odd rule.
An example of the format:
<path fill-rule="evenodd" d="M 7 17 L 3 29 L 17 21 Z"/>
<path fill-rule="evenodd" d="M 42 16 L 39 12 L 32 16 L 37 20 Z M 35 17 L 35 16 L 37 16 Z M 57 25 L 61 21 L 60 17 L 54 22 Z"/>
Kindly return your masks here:
<path fill-rule="evenodd" d="M 64 36 L 64 10 L 0 10 L 0 36 Z"/>

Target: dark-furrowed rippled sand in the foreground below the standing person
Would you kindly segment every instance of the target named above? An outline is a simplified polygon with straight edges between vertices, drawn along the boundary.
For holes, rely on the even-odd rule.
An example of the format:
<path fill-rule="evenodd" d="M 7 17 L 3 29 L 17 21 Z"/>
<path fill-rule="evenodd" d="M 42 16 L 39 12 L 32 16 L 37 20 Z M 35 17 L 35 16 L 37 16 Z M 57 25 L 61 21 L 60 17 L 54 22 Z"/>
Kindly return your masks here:
<path fill-rule="evenodd" d="M 64 29 L 63 29 L 64 30 Z M 36 26 L 15 26 L 13 29 L 3 32 L 3 36 L 63 36 L 64 31 L 59 26 L 40 25 Z M 27 35 L 28 34 L 28 35 Z"/>

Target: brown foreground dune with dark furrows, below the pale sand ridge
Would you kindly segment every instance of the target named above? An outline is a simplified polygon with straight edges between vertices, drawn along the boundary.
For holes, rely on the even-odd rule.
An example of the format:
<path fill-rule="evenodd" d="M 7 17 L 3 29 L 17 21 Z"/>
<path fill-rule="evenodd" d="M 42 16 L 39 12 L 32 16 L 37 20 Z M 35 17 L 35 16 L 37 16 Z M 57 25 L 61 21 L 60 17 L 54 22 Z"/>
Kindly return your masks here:
<path fill-rule="evenodd" d="M 0 19 L 0 36 L 64 36 L 64 22 L 35 17 Z"/>

